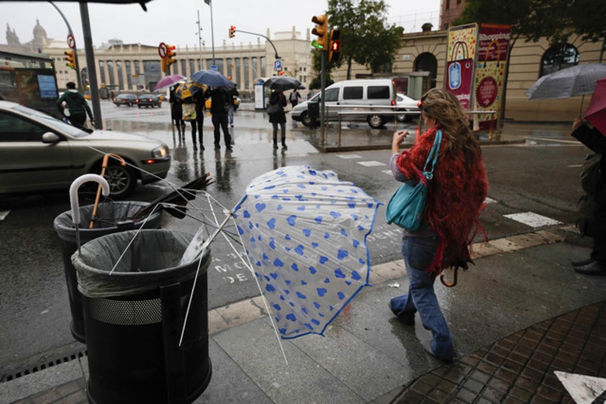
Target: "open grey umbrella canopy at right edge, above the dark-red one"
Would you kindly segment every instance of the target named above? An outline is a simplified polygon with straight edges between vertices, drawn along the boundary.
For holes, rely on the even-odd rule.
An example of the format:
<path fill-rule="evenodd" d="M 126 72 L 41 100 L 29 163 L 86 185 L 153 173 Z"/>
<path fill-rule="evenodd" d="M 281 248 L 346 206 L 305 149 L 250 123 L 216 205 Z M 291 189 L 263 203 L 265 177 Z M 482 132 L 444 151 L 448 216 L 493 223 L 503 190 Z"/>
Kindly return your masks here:
<path fill-rule="evenodd" d="M 586 63 L 543 76 L 528 88 L 530 99 L 570 98 L 593 93 L 596 80 L 606 77 L 606 64 Z"/>

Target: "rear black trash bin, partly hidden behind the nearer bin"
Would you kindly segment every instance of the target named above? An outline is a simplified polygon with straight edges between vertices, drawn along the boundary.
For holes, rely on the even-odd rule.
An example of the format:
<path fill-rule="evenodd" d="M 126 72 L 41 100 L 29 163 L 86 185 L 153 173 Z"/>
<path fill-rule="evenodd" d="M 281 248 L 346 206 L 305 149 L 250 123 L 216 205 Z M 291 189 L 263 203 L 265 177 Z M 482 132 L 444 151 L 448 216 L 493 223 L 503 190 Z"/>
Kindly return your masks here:
<path fill-rule="evenodd" d="M 146 217 L 132 220 L 142 207 L 147 206 L 147 202 L 136 200 L 127 200 L 123 202 L 104 202 L 99 205 L 94 228 L 79 229 L 81 243 L 85 243 L 97 237 L 106 234 L 117 233 L 118 231 L 133 230 L 141 227 Z M 93 213 L 93 205 L 87 205 L 80 208 L 82 222 L 88 224 Z M 160 228 L 162 214 L 161 210 L 155 211 L 147 218 L 144 228 Z M 72 265 L 72 254 L 76 251 L 76 228 L 72 221 L 72 211 L 68 210 L 55 217 L 53 227 L 59 236 L 61 243 L 61 254 L 63 256 L 63 267 L 65 271 L 65 280 L 67 282 L 67 293 L 70 299 L 70 309 L 72 311 L 72 323 L 70 329 L 75 339 L 86 342 L 84 332 L 84 318 L 82 317 L 82 297 L 78 292 L 78 280 L 76 279 L 76 270 Z"/>

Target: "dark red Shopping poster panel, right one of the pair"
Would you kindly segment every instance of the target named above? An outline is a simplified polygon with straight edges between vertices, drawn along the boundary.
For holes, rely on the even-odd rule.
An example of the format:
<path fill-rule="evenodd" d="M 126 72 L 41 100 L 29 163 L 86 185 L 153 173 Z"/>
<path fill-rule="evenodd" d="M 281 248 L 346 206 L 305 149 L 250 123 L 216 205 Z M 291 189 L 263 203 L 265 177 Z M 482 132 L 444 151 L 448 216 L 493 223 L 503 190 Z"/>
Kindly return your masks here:
<path fill-rule="evenodd" d="M 478 58 L 474 82 L 475 108 L 493 110 L 496 114 L 479 114 L 480 129 L 496 128 L 505 81 L 509 50 L 510 25 L 480 24 Z"/>

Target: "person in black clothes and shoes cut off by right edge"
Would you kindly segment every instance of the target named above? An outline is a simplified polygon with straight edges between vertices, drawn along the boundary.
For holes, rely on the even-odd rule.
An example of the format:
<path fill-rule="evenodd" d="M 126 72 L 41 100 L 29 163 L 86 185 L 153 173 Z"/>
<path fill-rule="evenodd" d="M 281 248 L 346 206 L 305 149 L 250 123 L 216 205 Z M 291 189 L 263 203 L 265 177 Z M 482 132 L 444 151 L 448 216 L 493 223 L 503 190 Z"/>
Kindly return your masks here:
<path fill-rule="evenodd" d="M 583 188 L 586 195 L 581 199 L 585 217 L 579 219 L 581 234 L 593 237 L 593 249 L 588 260 L 573 262 L 572 265 L 581 274 L 606 275 L 606 137 L 581 118 L 574 120 L 572 136 L 596 153 L 588 161 L 593 167 L 585 175 Z"/>

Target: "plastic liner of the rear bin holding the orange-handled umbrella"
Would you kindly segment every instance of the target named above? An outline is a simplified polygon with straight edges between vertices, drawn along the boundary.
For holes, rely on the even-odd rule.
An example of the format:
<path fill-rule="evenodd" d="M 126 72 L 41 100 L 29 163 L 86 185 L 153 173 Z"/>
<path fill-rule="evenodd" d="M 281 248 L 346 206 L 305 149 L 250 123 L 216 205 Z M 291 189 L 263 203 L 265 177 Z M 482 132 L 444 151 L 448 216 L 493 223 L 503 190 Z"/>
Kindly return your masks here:
<path fill-rule="evenodd" d="M 88 228 L 88 224 L 90 222 L 90 217 L 93 215 L 94 205 L 81 207 L 81 222 L 78 228 L 81 242 L 85 243 L 88 240 L 104 236 L 105 234 L 116 233 L 116 231 L 132 230 L 141 227 L 147 216 L 142 217 L 137 221 L 133 221 L 132 217 L 135 216 L 135 213 L 141 210 L 141 208 L 146 207 L 147 205 L 149 205 L 148 202 L 139 202 L 138 200 L 104 202 L 99 204 L 95 227 L 92 229 Z M 159 220 L 161 219 L 161 214 L 162 210 L 159 208 L 156 209 L 149 219 L 147 219 L 147 222 L 145 222 L 145 227 L 160 227 Z M 55 227 L 55 231 L 62 240 L 72 243 L 76 242 L 76 228 L 72 221 L 71 210 L 65 211 L 55 217 L 53 227 Z"/>

